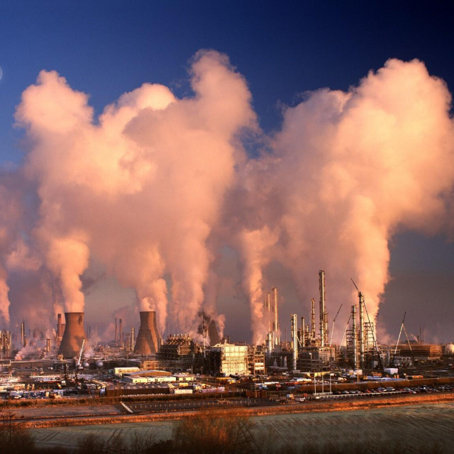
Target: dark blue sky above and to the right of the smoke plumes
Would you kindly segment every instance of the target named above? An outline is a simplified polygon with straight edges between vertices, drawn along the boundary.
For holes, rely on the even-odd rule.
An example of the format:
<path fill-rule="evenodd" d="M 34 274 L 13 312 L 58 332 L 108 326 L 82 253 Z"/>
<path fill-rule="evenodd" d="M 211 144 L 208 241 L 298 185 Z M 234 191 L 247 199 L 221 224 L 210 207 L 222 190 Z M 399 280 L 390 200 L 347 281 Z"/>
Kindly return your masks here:
<path fill-rule="evenodd" d="M 43 69 L 89 94 L 99 114 L 143 82 L 187 96 L 189 60 L 197 50 L 215 49 L 244 75 L 260 126 L 272 133 L 283 105 L 321 87 L 345 91 L 390 57 L 422 60 L 452 92 L 453 17 L 450 1 L 3 1 L 0 163 L 21 162 L 23 132 L 13 126 L 13 114 Z M 451 313 L 453 265 L 453 245 L 443 237 L 394 240 L 387 299 L 420 298 L 414 314 L 407 311 L 413 331 L 426 320 L 448 340 L 453 316 L 437 328 L 433 313 Z M 434 288 L 411 280 L 421 273 Z M 382 311 L 389 331 L 398 331 L 403 310 L 385 304 Z"/>

